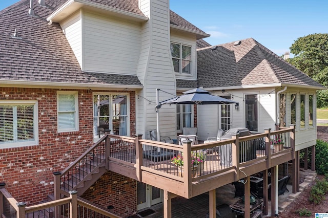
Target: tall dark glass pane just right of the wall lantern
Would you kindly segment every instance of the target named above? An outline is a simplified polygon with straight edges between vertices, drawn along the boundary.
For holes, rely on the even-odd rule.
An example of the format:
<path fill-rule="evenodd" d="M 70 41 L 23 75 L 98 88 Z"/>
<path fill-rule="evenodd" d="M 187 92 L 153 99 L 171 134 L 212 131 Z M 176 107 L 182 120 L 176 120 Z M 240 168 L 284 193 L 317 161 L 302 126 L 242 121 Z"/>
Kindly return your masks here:
<path fill-rule="evenodd" d="M 257 95 L 245 95 L 245 121 L 249 130 L 257 131 Z"/>

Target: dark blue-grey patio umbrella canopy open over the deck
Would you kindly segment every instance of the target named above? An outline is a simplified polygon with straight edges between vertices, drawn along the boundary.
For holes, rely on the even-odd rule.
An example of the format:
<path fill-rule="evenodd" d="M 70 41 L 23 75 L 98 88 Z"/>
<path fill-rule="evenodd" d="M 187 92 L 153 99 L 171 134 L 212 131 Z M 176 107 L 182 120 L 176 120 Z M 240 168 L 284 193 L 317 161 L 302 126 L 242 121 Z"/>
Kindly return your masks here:
<path fill-rule="evenodd" d="M 192 89 L 183 92 L 183 95 L 159 102 L 159 104 L 232 104 L 238 103 L 230 99 L 211 95 L 210 92 L 201 89 Z"/>

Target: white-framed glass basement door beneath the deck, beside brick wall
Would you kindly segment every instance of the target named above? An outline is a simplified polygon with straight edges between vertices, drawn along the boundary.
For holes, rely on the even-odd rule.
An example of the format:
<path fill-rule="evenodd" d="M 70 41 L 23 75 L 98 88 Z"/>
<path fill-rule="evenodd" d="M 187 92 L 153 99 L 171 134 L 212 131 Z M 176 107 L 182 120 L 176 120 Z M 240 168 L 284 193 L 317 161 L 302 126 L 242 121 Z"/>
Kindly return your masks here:
<path fill-rule="evenodd" d="M 163 191 L 146 183 L 137 182 L 137 210 L 141 210 L 163 201 Z"/>

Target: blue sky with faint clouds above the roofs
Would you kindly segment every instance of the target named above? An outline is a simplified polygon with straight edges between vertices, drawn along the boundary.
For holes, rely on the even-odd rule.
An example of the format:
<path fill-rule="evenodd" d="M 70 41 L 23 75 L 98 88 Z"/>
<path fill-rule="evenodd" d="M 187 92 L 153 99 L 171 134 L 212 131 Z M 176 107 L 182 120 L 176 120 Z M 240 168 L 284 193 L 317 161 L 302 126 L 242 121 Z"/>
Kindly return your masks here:
<path fill-rule="evenodd" d="M 0 0 L 0 10 L 15 2 Z M 170 0 L 170 8 L 211 34 L 212 46 L 254 38 L 280 56 L 299 37 L 328 33 L 327 0 Z"/>

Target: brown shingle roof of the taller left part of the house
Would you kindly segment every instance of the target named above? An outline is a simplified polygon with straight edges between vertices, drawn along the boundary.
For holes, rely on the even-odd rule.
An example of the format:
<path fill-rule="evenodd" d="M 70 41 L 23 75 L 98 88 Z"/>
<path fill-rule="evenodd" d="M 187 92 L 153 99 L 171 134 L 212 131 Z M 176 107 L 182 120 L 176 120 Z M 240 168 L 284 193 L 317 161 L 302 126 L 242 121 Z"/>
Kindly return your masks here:
<path fill-rule="evenodd" d="M 143 15 L 137 0 L 86 1 Z M 65 2 L 46 0 L 42 7 L 34 0 L 35 16 L 28 14 L 30 0 L 0 11 L 0 80 L 142 85 L 137 76 L 81 71 L 60 26 L 46 21 Z M 172 19 L 176 25 L 201 31 L 175 13 Z M 12 38 L 15 29 L 21 39 Z"/>

